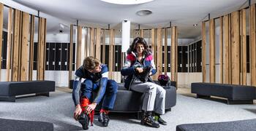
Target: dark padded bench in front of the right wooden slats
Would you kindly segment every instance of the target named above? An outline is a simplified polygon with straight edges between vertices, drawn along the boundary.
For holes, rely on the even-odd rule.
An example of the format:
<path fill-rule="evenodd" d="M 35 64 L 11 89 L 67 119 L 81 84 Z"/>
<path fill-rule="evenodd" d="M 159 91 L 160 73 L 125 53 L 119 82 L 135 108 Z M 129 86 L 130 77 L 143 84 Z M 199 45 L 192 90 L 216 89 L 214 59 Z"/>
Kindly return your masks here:
<path fill-rule="evenodd" d="M 255 99 L 256 88 L 236 84 L 192 83 L 191 92 L 197 98 L 217 96 L 227 98 L 227 104 L 252 104 Z"/>

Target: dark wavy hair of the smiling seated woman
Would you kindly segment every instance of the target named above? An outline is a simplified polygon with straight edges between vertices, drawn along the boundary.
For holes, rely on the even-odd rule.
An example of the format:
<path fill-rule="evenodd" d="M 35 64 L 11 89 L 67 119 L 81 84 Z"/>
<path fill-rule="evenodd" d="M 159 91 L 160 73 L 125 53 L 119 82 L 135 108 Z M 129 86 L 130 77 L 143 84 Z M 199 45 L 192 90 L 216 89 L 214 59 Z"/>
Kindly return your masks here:
<path fill-rule="evenodd" d="M 129 49 L 127 50 L 127 54 L 131 54 L 132 52 L 136 52 L 136 45 L 137 44 L 143 44 L 144 51 L 143 54 L 148 56 L 151 54 L 151 49 L 148 47 L 147 42 L 142 37 L 137 37 L 133 40 L 132 45 L 129 46 Z"/>

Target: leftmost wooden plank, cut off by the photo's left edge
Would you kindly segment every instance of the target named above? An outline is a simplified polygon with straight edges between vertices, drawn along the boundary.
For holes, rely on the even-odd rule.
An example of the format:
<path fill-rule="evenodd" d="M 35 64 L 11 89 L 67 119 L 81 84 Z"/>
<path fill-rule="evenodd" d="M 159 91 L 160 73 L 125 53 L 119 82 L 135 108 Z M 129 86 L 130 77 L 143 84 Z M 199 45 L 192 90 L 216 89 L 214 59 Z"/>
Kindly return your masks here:
<path fill-rule="evenodd" d="M 1 57 L 1 50 L 2 50 L 2 44 L 3 44 L 3 20 L 4 20 L 4 4 L 0 3 L 0 81 L 1 81 L 1 61 L 2 61 L 2 57 Z"/>

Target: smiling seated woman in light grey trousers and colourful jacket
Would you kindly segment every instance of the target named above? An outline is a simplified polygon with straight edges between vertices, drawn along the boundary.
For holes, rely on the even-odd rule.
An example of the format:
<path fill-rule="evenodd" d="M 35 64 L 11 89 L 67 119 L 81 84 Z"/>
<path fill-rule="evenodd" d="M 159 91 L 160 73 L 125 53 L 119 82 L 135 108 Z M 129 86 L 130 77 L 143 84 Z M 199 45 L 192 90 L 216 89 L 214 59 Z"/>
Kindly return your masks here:
<path fill-rule="evenodd" d="M 137 37 L 127 50 L 127 60 L 121 69 L 121 74 L 127 76 L 124 87 L 145 93 L 140 124 L 158 128 L 159 124 L 166 125 L 167 122 L 160 117 L 160 114 L 165 114 L 165 90 L 154 84 L 149 77 L 156 72 L 151 49 L 145 39 Z M 154 117 L 152 111 L 155 113 Z"/>

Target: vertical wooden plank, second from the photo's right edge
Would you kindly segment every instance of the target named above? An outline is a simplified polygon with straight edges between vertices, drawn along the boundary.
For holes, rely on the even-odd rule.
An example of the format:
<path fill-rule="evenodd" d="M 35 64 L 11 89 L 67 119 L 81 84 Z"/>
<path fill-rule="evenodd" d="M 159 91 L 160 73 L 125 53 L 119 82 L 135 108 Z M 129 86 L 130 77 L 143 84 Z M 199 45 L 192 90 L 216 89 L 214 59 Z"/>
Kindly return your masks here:
<path fill-rule="evenodd" d="M 242 9 L 241 11 L 241 38 L 241 84 L 246 85 L 246 9 Z"/>

